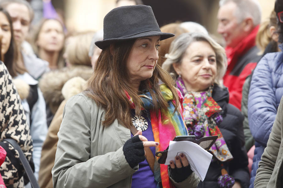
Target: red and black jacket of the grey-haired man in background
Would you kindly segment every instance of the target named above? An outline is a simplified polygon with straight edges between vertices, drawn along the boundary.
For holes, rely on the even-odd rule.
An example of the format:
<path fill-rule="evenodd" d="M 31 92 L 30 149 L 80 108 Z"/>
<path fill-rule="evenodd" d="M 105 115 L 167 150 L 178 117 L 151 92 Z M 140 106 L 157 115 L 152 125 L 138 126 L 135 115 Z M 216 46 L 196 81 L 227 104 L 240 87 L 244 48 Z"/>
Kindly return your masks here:
<path fill-rule="evenodd" d="M 223 77 L 223 82 L 229 90 L 229 103 L 239 110 L 241 110 L 242 87 L 244 82 L 260 59 L 258 55 L 259 50 L 255 46 L 258 27 L 255 27 L 235 48 L 226 47 L 225 49 L 228 67 Z"/>

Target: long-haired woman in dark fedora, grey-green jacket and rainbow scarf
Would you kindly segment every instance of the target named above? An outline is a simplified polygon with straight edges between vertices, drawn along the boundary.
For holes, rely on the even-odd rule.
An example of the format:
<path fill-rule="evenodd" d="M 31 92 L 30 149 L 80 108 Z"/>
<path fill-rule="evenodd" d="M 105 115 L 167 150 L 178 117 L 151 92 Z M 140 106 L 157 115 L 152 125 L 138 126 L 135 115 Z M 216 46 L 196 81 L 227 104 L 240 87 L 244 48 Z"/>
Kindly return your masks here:
<path fill-rule="evenodd" d="M 113 9 L 103 33 L 88 89 L 64 108 L 53 187 L 197 187 L 184 154 L 168 166 L 154 157 L 188 135 L 181 94 L 157 64 L 160 40 L 174 34 L 145 5 Z"/>

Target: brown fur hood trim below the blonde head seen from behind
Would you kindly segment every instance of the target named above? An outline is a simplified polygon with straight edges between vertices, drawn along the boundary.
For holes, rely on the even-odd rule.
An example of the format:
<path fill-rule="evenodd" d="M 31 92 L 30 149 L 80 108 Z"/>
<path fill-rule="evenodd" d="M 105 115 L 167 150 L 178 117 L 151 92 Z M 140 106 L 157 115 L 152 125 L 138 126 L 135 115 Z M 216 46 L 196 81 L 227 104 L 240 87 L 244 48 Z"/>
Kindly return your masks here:
<path fill-rule="evenodd" d="M 65 99 L 62 88 L 69 79 L 79 76 L 84 80 L 88 80 L 92 73 L 92 68 L 84 65 L 64 67 L 45 73 L 39 80 L 39 87 L 51 112 L 55 114 L 59 105 Z"/>

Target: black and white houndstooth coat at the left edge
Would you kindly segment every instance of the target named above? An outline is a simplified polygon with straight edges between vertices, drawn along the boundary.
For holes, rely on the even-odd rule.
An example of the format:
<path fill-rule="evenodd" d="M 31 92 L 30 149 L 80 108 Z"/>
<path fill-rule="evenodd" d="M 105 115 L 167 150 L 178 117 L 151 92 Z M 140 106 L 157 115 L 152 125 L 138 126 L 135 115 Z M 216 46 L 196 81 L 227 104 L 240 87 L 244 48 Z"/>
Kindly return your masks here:
<path fill-rule="evenodd" d="M 26 158 L 31 159 L 33 146 L 30 128 L 26 124 L 25 113 L 12 78 L 7 67 L 0 61 L 0 145 L 7 152 L 0 173 L 7 187 L 24 187 L 24 169 L 19 162 L 19 153 L 7 142 L 2 142 L 5 138 L 15 139 Z"/>

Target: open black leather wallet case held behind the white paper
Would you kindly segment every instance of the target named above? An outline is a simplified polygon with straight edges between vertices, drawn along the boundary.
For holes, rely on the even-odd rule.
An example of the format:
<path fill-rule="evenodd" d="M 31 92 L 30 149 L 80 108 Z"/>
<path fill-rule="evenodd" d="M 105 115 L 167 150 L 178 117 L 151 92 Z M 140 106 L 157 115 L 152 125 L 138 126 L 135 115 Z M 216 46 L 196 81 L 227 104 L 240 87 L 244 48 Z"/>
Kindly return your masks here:
<path fill-rule="evenodd" d="M 190 136 L 190 137 L 188 137 L 188 136 L 176 136 L 173 141 L 190 141 L 190 142 L 193 142 L 193 143 L 200 145 L 203 149 L 208 150 L 209 148 L 211 148 L 211 146 L 214 144 L 214 142 L 216 141 L 217 138 L 218 138 L 218 136 L 208 136 L 208 137 L 203 137 L 203 138 L 200 138 L 200 139 L 196 139 L 193 136 Z M 168 148 L 169 148 L 169 146 L 164 151 L 156 152 L 155 155 L 157 157 L 160 157 L 158 159 L 159 164 L 165 163 L 166 158 L 167 158 Z"/>

